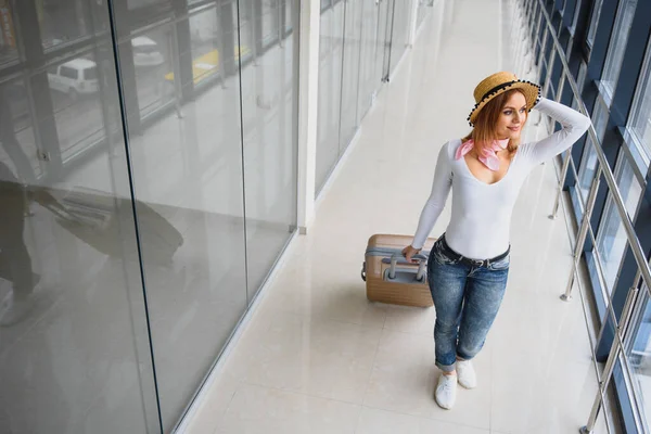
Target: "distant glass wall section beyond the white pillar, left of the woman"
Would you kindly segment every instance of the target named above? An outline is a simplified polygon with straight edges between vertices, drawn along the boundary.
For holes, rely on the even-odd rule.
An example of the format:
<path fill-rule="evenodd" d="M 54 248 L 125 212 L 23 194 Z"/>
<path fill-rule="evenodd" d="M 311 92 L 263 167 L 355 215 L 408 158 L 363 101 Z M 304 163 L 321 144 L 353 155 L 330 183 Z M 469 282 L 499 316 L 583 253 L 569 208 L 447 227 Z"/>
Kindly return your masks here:
<path fill-rule="evenodd" d="M 321 1 L 317 192 L 354 139 L 390 68 L 405 54 L 409 8 L 408 0 Z"/>

